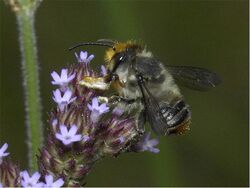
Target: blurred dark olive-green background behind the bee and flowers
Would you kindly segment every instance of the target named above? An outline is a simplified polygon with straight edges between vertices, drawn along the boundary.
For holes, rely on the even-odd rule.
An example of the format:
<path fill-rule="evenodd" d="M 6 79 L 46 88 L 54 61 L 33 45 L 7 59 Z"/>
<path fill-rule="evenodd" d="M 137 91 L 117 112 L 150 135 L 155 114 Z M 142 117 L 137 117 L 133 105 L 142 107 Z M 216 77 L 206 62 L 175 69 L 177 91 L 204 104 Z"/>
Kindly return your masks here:
<path fill-rule="evenodd" d="M 16 19 L 0 2 L 0 144 L 27 168 L 24 96 Z M 138 39 L 163 62 L 214 70 L 223 84 L 209 92 L 182 88 L 191 131 L 162 137 L 161 152 L 124 154 L 97 163 L 87 186 L 248 186 L 248 1 L 45 0 L 36 15 L 44 126 L 55 105 L 53 70 L 74 63 L 73 44 Z M 104 48 L 87 47 L 103 62 Z"/>

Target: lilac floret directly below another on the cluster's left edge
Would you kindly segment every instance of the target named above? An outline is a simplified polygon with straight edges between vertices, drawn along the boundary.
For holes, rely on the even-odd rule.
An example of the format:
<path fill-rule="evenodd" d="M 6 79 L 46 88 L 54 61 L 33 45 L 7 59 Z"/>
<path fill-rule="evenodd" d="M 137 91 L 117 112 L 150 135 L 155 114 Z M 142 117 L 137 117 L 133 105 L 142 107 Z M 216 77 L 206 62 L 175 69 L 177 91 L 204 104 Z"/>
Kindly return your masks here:
<path fill-rule="evenodd" d="M 72 98 L 72 91 L 67 89 L 63 96 L 61 95 L 61 91 L 57 89 L 56 91 L 53 91 L 54 97 L 53 100 L 58 104 L 61 111 L 64 110 L 64 108 L 71 102 L 73 102 L 76 97 Z"/>

